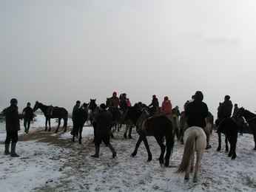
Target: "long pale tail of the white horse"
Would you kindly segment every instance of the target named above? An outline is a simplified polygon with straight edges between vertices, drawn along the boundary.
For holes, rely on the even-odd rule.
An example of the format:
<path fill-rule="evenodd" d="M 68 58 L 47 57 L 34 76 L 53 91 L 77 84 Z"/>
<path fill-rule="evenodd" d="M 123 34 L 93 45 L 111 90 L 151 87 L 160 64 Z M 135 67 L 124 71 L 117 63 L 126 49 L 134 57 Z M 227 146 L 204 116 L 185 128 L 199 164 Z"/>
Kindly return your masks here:
<path fill-rule="evenodd" d="M 198 134 L 199 132 L 197 130 L 192 130 L 189 134 L 189 137 L 186 139 L 181 165 L 176 173 L 183 173 L 184 171 L 186 171 L 186 168 L 188 167 L 192 154 L 195 150 L 195 138 L 198 137 Z"/>

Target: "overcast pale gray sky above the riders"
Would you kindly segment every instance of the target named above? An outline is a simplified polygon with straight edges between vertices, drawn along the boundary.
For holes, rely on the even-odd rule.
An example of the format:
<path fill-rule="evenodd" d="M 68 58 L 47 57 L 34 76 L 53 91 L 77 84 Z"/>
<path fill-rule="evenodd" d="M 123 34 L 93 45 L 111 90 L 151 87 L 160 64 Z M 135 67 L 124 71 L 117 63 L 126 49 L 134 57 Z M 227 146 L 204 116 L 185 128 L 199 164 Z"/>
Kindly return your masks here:
<path fill-rule="evenodd" d="M 210 112 L 230 95 L 256 110 L 256 1 L 0 0 L 0 106 L 103 103 L 126 92 Z"/>

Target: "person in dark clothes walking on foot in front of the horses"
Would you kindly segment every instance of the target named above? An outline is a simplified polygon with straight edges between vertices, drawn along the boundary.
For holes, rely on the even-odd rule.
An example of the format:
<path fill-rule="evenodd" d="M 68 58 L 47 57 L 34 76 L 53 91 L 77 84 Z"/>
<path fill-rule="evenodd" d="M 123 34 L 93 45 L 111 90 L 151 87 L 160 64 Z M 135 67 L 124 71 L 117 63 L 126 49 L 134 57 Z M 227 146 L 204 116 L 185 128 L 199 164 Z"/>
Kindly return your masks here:
<path fill-rule="evenodd" d="M 100 145 L 104 144 L 112 151 L 112 157 L 116 156 L 115 148 L 110 144 L 110 131 L 112 127 L 112 114 L 106 110 L 106 105 L 101 103 L 100 112 L 95 116 L 97 131 L 95 138 L 95 154 L 92 157 L 99 157 Z"/>

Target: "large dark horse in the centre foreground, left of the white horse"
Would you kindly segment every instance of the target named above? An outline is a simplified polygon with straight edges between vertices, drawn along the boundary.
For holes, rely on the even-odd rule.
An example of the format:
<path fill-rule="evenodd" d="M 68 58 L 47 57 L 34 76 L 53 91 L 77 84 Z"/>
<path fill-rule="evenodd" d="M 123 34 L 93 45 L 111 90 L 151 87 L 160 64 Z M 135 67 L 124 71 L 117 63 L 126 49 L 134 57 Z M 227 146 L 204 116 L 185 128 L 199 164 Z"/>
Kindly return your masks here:
<path fill-rule="evenodd" d="M 136 125 L 136 131 L 139 134 L 138 142 L 136 143 L 135 150 L 132 153 L 132 157 L 137 154 L 138 148 L 143 141 L 146 146 L 146 151 L 148 153 L 148 161 L 152 160 L 152 154 L 149 150 L 149 144 L 147 142 L 146 136 L 154 136 L 161 147 L 161 155 L 159 157 L 160 164 L 164 164 L 166 167 L 169 166 L 169 157 L 172 154 L 172 148 L 174 145 L 173 140 L 173 126 L 172 121 L 168 119 L 165 115 L 159 115 L 156 117 L 147 118 L 149 115 L 146 111 L 141 111 L 138 103 L 135 106 L 130 107 L 127 110 L 125 119 L 132 120 L 132 123 Z M 163 138 L 166 139 L 166 146 L 163 143 Z M 166 155 L 164 157 L 164 153 Z M 164 162 L 165 160 L 165 162 Z"/>

